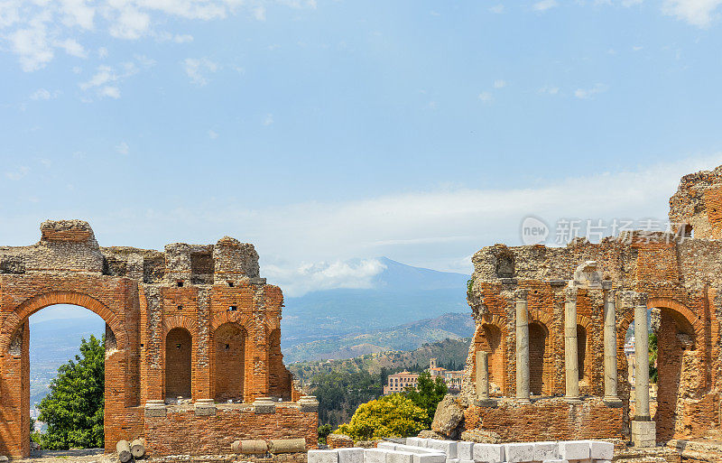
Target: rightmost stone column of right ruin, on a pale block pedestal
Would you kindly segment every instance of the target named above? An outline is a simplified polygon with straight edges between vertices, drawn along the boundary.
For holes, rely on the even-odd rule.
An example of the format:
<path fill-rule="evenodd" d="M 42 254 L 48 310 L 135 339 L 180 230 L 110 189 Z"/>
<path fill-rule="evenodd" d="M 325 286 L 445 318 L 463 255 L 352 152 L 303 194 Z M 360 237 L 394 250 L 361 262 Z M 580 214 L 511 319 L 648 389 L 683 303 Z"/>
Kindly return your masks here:
<path fill-rule="evenodd" d="M 649 413 L 649 329 L 647 328 L 647 306 L 634 306 L 634 408 L 632 421 L 632 442 L 635 447 L 654 447 L 656 428 Z"/>

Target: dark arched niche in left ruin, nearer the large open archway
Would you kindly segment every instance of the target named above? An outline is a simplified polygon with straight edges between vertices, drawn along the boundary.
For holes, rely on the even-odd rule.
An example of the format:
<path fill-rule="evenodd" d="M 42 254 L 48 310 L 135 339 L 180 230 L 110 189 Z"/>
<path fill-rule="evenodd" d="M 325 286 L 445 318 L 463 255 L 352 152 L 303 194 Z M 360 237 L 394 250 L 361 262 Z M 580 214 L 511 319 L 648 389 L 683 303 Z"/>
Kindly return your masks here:
<path fill-rule="evenodd" d="M 192 344 L 188 329 L 171 329 L 165 337 L 165 396 L 168 399 L 190 398 Z"/>

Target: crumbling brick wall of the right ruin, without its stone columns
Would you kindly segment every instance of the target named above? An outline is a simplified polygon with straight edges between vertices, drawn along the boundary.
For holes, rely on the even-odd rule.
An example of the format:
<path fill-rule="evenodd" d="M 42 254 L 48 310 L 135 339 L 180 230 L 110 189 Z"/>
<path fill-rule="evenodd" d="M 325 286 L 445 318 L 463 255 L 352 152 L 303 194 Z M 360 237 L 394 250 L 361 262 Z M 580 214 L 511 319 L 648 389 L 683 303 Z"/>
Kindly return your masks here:
<path fill-rule="evenodd" d="M 646 294 L 648 306 L 660 312 L 659 323 L 653 327 L 659 343 L 658 409 L 653 417 L 658 440 L 696 438 L 719 429 L 722 166 L 682 178 L 670 199 L 670 218 L 674 222 L 671 233 L 624 232 L 598 244 L 577 238 L 564 247 L 494 245 L 473 256 L 467 299 L 477 330 L 461 394 L 462 403 L 467 403 L 467 430 L 499 431 L 498 423 L 523 418 L 525 426 L 504 428 L 508 440 L 532 440 L 527 436 L 530 429 L 542 430 L 550 439 L 576 439 L 579 432 L 569 431 L 574 422 L 584 423 L 585 430 L 597 436 L 628 437 L 630 384 L 624 341 L 634 320 L 634 304 L 624 294 L 632 292 Z M 579 289 L 577 295 L 578 334 L 583 334 L 578 336 L 579 389 L 587 395 L 583 403 L 588 407 L 553 398 L 565 393 L 564 290 L 579 264 L 588 261 L 597 263 L 601 277 L 617 295 L 617 381 L 622 409 L 599 400 L 605 394 L 604 301 L 597 290 Z M 514 293 L 520 289 L 528 292 L 531 389 L 538 392 L 535 382 L 541 378 L 542 398 L 532 404 L 504 400 L 504 406 L 496 409 L 474 406 L 479 350 L 489 355 L 491 395 L 514 397 Z M 535 338 L 534 333 L 540 332 L 537 327 L 548 333 L 545 340 Z M 501 335 L 496 347 L 489 341 L 490 332 Z M 544 343 L 542 361 L 535 356 L 540 357 Z"/>

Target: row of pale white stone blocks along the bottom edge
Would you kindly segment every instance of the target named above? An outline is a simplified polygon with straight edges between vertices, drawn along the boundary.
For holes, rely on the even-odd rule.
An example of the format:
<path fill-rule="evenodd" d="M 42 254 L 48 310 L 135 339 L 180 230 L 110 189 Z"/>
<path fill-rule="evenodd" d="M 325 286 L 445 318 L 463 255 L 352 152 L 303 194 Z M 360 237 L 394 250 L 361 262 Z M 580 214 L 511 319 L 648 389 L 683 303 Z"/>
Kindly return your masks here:
<path fill-rule="evenodd" d="M 308 463 L 608 463 L 614 449 L 603 440 L 485 444 L 409 438 L 405 444 L 379 442 L 376 449 L 309 450 Z"/>

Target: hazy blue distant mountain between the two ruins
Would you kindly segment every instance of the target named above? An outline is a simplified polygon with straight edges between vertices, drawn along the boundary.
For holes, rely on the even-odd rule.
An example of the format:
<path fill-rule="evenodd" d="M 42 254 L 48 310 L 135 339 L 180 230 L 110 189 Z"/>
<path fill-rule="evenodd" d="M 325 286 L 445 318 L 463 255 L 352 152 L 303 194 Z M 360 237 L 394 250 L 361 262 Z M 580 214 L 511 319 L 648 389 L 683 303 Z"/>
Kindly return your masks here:
<path fill-rule="evenodd" d="M 386 257 L 380 261 L 385 268 L 373 279 L 372 288 L 309 292 L 286 299 L 281 342 L 287 358 L 315 358 L 326 351 L 325 347 L 292 350 L 301 344 L 328 341 L 326 346 L 334 346 L 341 337 L 351 339 L 397 329 L 399 325 L 448 313 L 469 313 L 466 301 L 468 275 L 412 267 Z M 412 330 L 407 329 L 406 333 L 404 337 L 412 334 Z M 421 338 L 426 336 L 419 335 Z M 438 340 L 439 336 L 438 333 L 426 337 L 423 342 Z M 347 350 L 343 356 L 354 357 L 365 350 L 389 347 L 388 343 L 377 345 L 376 335 L 372 338 L 375 340 L 371 342 L 359 338 L 356 344 L 347 346 L 358 347 Z M 409 340 L 395 348 L 413 348 L 421 344 L 421 340 Z"/>

